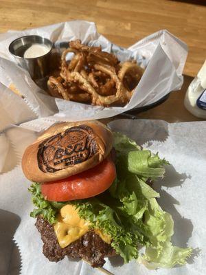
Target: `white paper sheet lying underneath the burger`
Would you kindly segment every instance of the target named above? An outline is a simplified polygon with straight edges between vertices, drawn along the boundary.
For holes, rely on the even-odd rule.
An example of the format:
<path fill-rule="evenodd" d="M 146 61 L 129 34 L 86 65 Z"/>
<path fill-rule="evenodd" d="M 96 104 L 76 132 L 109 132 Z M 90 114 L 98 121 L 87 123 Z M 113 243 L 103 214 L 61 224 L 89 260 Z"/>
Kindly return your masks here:
<path fill-rule="evenodd" d="M 35 125 L 35 122 L 25 122 L 23 126 L 11 126 L 10 129 L 5 131 L 5 135 L 15 148 L 19 160 L 25 146 L 35 140 L 41 132 L 41 126 L 42 129 L 45 128 L 45 124 L 41 119 L 38 120 L 38 131 L 36 129 L 32 130 L 32 125 Z M 205 274 L 205 122 L 170 124 L 161 120 L 115 120 L 109 126 L 113 131 L 125 133 L 153 153 L 158 151 L 160 157 L 165 157 L 170 162 L 170 166 L 166 166 L 164 179 L 156 181 L 154 188 L 161 195 L 161 198 L 158 199 L 161 207 L 163 210 L 170 212 L 174 219 L 174 245 L 191 246 L 194 248 L 194 254 L 187 265 L 174 267 L 172 270 L 159 269 L 155 271 L 155 274 Z M 13 157 L 13 155 L 10 155 L 10 157 Z M 15 219 L 16 215 L 19 220 L 21 219 L 17 230 L 16 223 L 12 228 L 13 231 L 16 230 L 14 240 L 21 252 L 21 274 L 102 274 L 99 270 L 92 269 L 82 261 L 69 261 L 67 258 L 58 263 L 47 261 L 41 252 L 43 243 L 34 227 L 35 220 L 29 217 L 33 206 L 30 201 L 30 194 L 27 192 L 28 186 L 30 186 L 30 182 L 25 179 L 20 166 L 16 166 L 0 177 L 0 208 L 4 211 L 4 214 L 7 211 L 9 215 L 13 214 Z M 1 230 L 0 243 L 6 238 L 9 243 L 8 236 L 5 236 L 5 232 L 3 234 Z M 8 232 L 8 234 L 11 233 Z M 9 245 L 8 248 L 10 248 Z M 5 258 L 6 255 L 8 253 L 0 254 L 0 263 L 3 261 L 5 263 L 8 259 Z M 144 265 L 139 265 L 137 261 L 131 261 L 123 265 L 118 257 L 106 259 L 104 268 L 113 274 L 122 275 L 150 275 L 154 273 L 154 271 L 147 270 Z M 0 272 L 0 274 L 7 274 L 8 270 L 5 271 L 5 273 Z"/>

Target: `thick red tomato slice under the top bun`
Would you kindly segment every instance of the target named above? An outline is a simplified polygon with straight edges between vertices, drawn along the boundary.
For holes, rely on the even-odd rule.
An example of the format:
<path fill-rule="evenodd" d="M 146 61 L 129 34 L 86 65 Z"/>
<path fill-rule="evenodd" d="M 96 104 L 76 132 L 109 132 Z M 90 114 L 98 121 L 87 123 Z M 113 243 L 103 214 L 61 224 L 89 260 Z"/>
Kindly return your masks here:
<path fill-rule="evenodd" d="M 111 158 L 106 158 L 97 166 L 82 173 L 42 184 L 41 192 L 48 201 L 86 199 L 108 189 L 115 177 L 115 164 Z"/>

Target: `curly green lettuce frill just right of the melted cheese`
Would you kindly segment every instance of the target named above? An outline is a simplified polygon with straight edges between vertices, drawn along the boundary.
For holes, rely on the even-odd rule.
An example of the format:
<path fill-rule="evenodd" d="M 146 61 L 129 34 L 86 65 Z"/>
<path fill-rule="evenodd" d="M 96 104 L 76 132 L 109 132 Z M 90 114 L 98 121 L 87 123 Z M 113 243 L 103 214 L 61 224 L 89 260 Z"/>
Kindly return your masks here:
<path fill-rule="evenodd" d="M 108 200 L 108 195 L 105 201 L 102 199 L 104 203 L 108 203 Z M 80 217 L 91 221 L 91 228 L 101 228 L 104 233 L 111 235 L 111 246 L 122 256 L 125 263 L 137 259 L 139 255 L 135 244 L 141 241 L 141 236 L 139 237 L 138 232 L 130 230 L 126 217 L 104 203 L 98 199 L 73 202 Z"/>

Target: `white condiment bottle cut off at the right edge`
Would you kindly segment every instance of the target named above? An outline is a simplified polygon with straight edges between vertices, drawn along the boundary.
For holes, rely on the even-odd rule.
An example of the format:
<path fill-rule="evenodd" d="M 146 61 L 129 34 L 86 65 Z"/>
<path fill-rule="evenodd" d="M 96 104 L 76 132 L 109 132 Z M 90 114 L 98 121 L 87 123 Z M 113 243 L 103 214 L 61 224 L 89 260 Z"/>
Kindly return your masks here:
<path fill-rule="evenodd" d="M 206 61 L 198 72 L 198 75 L 187 89 L 185 94 L 185 108 L 198 118 L 206 118 L 206 109 L 197 105 L 201 100 L 206 105 Z"/>

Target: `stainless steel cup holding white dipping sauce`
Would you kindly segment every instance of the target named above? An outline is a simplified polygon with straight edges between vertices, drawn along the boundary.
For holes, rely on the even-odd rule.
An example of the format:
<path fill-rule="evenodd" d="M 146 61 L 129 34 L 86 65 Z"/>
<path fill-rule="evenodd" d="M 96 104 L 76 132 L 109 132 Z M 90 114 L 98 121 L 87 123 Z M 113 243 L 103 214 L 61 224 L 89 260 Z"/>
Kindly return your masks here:
<path fill-rule="evenodd" d="M 23 54 L 25 51 L 34 44 L 46 45 L 49 48 L 49 52 L 39 57 L 24 58 Z M 48 63 L 52 47 L 52 41 L 49 39 L 45 39 L 38 35 L 27 35 L 12 41 L 9 45 L 9 51 L 16 59 L 16 62 L 24 69 L 27 69 L 34 80 L 37 80 L 44 78 L 49 72 Z"/>

